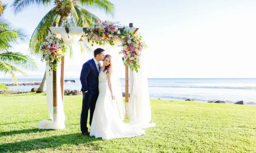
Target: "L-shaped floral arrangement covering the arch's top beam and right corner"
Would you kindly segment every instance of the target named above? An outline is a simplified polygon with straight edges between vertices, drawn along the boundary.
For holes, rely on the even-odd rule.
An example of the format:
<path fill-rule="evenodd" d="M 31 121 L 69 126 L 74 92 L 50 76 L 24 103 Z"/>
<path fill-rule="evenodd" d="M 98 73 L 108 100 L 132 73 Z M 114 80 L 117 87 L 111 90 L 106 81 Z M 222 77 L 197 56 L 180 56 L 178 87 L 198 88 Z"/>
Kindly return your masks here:
<path fill-rule="evenodd" d="M 87 28 L 88 42 L 96 43 L 99 45 L 108 43 L 115 45 L 114 42 L 121 40 L 122 50 L 120 54 L 123 54 L 124 64 L 128 65 L 131 70 L 138 72 L 139 59 L 142 48 L 146 48 L 145 42 L 141 42 L 141 36 L 135 36 L 129 33 L 125 26 L 121 26 L 118 22 L 100 21 L 97 20 L 94 26 Z M 93 46 L 93 44 L 92 44 Z"/>

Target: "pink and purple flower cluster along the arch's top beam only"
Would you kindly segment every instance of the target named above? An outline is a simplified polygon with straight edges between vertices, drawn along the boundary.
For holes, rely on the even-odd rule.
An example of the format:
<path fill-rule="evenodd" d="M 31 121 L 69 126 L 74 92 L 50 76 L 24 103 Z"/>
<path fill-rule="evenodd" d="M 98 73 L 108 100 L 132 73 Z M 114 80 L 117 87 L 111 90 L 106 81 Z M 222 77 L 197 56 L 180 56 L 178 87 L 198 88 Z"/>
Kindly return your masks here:
<path fill-rule="evenodd" d="M 87 40 L 88 42 L 92 41 L 99 45 L 105 43 L 115 45 L 114 42 L 120 40 L 119 35 L 122 31 L 118 28 L 121 28 L 118 22 L 102 22 L 97 20 L 95 25 L 87 28 Z M 91 46 L 93 46 L 93 44 Z"/>

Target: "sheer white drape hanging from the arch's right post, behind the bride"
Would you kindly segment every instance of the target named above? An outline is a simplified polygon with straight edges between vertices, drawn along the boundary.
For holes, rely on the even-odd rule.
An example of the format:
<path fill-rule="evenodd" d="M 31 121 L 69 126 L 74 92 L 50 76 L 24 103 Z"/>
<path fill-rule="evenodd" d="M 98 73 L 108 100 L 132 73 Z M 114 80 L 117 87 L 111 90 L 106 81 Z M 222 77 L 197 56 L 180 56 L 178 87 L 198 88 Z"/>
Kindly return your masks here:
<path fill-rule="evenodd" d="M 130 123 L 138 125 L 142 129 L 156 126 L 155 123 L 149 123 L 151 120 L 151 107 L 149 99 L 149 90 L 147 77 L 144 74 L 142 66 L 143 57 L 140 58 L 140 68 L 138 72 L 129 72 L 130 79 Z"/>

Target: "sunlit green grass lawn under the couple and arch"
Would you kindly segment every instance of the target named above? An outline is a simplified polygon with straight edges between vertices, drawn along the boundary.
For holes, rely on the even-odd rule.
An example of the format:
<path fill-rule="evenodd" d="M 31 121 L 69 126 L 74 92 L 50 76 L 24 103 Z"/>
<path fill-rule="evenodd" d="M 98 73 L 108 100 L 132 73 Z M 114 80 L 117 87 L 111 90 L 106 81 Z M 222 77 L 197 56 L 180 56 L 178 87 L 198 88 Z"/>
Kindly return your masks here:
<path fill-rule="evenodd" d="M 156 127 L 101 140 L 82 136 L 81 103 L 65 96 L 66 129 L 38 130 L 49 120 L 44 93 L 0 95 L 0 152 L 256 152 L 256 106 L 151 100 Z"/>

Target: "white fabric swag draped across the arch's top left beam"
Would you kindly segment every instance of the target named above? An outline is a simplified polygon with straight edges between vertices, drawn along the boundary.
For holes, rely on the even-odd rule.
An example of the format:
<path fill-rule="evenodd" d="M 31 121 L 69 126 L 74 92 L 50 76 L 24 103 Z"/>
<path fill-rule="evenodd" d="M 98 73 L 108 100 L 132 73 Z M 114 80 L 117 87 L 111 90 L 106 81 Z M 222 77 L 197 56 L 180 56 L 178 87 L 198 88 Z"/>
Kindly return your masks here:
<path fill-rule="evenodd" d="M 69 46 L 76 44 L 82 35 L 85 35 L 82 27 L 69 27 L 69 33 L 66 32 L 65 27 L 49 27 L 51 32 L 61 35 L 63 42 Z"/>

